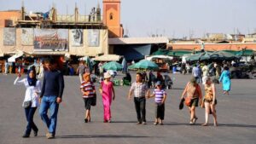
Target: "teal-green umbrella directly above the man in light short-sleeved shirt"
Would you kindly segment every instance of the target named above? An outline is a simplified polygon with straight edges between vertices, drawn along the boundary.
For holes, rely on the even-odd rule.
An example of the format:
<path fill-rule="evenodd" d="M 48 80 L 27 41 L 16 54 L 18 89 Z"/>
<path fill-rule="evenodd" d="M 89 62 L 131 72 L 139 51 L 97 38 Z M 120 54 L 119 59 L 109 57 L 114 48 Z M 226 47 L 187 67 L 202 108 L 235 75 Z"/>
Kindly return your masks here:
<path fill-rule="evenodd" d="M 147 69 L 147 70 L 158 70 L 159 66 L 157 66 L 154 62 L 150 60 L 140 60 L 134 66 L 135 69 Z"/>

